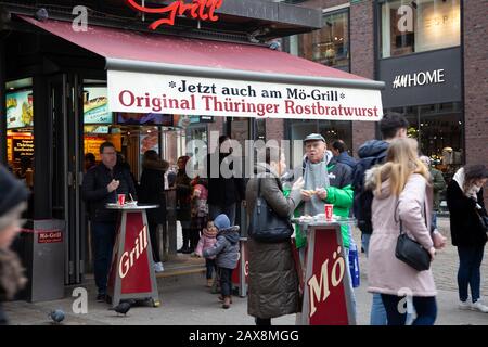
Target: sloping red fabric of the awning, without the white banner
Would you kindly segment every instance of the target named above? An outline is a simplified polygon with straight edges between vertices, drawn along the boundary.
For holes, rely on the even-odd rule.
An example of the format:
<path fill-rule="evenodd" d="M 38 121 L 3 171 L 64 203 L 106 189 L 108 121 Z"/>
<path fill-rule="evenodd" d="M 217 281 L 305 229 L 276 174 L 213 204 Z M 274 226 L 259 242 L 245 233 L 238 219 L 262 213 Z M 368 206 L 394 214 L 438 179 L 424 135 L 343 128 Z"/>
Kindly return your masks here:
<path fill-rule="evenodd" d="M 75 31 L 72 23 L 49 20 L 23 20 L 106 59 L 191 65 L 215 69 L 246 70 L 367 80 L 311 61 L 267 47 L 145 34 L 89 25 L 88 31 Z"/>

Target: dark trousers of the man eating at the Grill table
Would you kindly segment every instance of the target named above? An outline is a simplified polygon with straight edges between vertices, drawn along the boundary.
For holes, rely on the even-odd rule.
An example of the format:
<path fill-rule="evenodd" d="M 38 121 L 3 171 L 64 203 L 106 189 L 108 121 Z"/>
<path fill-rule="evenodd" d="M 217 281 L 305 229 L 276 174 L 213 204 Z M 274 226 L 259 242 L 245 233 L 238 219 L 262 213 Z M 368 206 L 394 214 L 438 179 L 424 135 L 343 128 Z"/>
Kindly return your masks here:
<path fill-rule="evenodd" d="M 106 294 L 116 228 L 116 223 L 92 222 L 91 224 L 94 246 L 93 270 L 99 294 Z"/>

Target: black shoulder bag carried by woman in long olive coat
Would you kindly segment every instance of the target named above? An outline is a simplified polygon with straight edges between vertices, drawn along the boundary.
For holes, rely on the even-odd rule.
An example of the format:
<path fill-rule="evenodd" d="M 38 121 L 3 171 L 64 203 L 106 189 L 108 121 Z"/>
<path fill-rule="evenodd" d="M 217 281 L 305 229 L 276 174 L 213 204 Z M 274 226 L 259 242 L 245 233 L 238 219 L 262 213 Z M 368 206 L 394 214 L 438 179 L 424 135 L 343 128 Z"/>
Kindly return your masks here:
<path fill-rule="evenodd" d="M 278 243 L 288 240 L 294 232 L 292 222 L 288 218 L 282 218 L 268 206 L 266 198 L 261 196 L 261 180 L 258 178 L 258 194 L 253 215 L 249 220 L 247 234 L 251 239 L 266 242 Z"/>

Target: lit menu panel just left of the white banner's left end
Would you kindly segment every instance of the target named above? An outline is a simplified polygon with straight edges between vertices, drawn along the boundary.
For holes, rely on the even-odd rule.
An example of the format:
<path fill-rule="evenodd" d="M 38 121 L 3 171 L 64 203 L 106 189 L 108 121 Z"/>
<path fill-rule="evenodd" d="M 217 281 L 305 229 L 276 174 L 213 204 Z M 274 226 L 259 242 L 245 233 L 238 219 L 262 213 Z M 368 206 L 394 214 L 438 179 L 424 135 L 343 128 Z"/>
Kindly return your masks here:
<path fill-rule="evenodd" d="M 112 124 L 108 112 L 106 87 L 87 87 L 84 89 L 85 124 Z"/>

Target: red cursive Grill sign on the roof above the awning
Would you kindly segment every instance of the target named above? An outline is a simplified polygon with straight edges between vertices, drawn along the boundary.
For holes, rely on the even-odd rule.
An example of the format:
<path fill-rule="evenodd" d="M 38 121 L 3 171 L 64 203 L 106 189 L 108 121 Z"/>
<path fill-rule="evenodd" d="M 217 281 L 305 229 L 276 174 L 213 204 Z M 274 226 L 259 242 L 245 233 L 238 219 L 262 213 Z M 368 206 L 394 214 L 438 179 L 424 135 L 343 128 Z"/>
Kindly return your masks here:
<path fill-rule="evenodd" d="M 215 15 L 215 10 L 218 10 L 223 0 L 193 0 L 192 2 L 184 2 L 183 0 L 174 1 L 170 4 L 162 8 L 146 8 L 137 3 L 136 0 L 126 0 L 127 4 L 142 13 L 149 14 L 167 14 L 167 17 L 153 22 L 149 27 L 155 30 L 159 25 L 175 25 L 175 17 L 177 15 L 185 15 L 187 17 L 200 21 L 218 21 L 218 16 Z"/>

